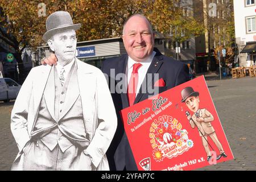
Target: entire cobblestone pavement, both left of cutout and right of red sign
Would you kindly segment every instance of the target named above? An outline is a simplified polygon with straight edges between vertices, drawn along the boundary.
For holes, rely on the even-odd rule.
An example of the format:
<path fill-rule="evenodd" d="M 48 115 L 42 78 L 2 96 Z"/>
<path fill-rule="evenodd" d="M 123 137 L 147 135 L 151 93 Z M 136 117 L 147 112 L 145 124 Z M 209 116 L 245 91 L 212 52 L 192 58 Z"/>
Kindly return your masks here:
<path fill-rule="evenodd" d="M 256 77 L 209 79 L 207 85 L 235 159 L 198 170 L 256 170 Z M 0 170 L 9 170 L 18 154 L 10 130 L 13 104 L 0 102 Z"/>

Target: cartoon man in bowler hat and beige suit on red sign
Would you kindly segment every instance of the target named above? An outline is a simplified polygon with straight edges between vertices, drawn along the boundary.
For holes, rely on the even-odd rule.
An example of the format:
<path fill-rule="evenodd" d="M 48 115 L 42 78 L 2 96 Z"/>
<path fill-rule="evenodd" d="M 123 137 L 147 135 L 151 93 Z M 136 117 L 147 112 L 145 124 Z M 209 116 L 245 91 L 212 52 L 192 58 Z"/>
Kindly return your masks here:
<path fill-rule="evenodd" d="M 187 111 L 186 115 L 191 127 L 194 129 L 196 126 L 199 130 L 199 135 L 202 138 L 204 150 L 207 153 L 207 160 L 209 161 L 210 158 L 212 158 L 209 149 L 210 144 L 208 143 L 208 136 L 213 140 L 213 142 L 218 147 L 218 150 L 220 151 L 220 155 L 218 155 L 216 159 L 218 160 L 221 157 L 226 158 L 227 155 L 225 154 L 222 145 L 217 138 L 212 124 L 210 123 L 214 120 L 213 115 L 210 114 L 210 112 L 205 108 L 199 109 L 199 92 L 195 92 L 192 87 L 188 86 L 181 91 L 181 97 L 181 102 L 185 102 L 185 105 L 188 107 L 188 109 L 194 113 L 191 117 Z M 212 146 L 210 147 L 212 148 Z"/>

